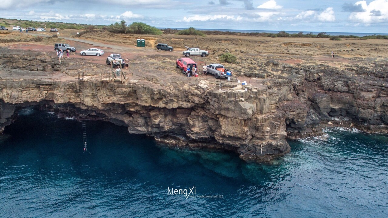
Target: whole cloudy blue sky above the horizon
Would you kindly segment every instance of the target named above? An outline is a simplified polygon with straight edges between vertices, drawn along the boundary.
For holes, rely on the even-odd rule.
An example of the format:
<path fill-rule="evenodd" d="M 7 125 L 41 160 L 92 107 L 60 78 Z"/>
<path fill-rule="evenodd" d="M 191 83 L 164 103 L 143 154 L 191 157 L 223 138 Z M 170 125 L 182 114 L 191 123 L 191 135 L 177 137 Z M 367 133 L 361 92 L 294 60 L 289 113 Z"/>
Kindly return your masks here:
<path fill-rule="evenodd" d="M 388 0 L 2 0 L 0 17 L 160 28 L 388 33 Z"/>

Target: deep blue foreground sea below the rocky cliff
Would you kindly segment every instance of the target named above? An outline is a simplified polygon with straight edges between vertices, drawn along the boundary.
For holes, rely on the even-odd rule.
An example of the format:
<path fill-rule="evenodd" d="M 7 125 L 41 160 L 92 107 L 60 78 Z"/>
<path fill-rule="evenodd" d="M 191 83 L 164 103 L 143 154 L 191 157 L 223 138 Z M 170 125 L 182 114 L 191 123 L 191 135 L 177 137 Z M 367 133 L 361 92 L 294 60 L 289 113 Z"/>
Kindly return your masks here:
<path fill-rule="evenodd" d="M 273 165 L 24 109 L 0 138 L 0 217 L 387 217 L 388 137 L 327 130 Z M 169 195 L 168 188 L 196 194 Z M 219 196 L 222 196 L 219 197 Z M 204 198 L 201 196 L 215 196 Z"/>

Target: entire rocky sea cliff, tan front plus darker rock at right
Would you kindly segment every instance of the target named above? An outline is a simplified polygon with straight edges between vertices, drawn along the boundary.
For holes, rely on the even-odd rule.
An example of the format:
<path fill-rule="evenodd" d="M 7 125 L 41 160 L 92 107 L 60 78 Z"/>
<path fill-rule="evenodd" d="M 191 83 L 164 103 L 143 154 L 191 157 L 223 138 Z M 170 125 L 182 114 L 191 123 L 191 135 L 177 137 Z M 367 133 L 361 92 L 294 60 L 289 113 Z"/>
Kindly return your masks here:
<path fill-rule="evenodd" d="M 74 66 L 58 66 L 42 53 L 29 55 L 28 62 L 41 67 L 33 79 L 23 55 L 12 54 L 21 66 L 0 55 L 2 128 L 15 111 L 31 104 L 49 104 L 59 112 L 82 108 L 90 119 L 125 125 L 130 133 L 152 135 L 172 147 L 227 149 L 247 161 L 285 154 L 290 151 L 286 138 L 321 135 L 322 126 L 343 124 L 344 118 L 364 130 L 387 130 L 386 65 L 340 71 L 274 62 L 271 68 L 280 73 L 257 79 L 258 89 L 245 91 L 220 80 L 220 85 L 160 78 L 102 83 L 97 70 L 80 83 Z M 10 73 L 21 76 L 11 79 Z"/>

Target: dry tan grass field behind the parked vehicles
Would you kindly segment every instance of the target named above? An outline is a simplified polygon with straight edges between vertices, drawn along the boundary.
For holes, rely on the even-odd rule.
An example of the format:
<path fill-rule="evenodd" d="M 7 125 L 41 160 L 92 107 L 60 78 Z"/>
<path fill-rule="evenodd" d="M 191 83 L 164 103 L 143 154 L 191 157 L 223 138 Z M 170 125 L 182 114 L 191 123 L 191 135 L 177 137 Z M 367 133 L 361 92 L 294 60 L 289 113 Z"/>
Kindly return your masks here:
<path fill-rule="evenodd" d="M 77 38 L 76 32 L 73 29 L 60 30 L 59 36 Z M 43 33 L 34 31 L 33 33 L 47 36 L 56 34 L 49 31 Z M 40 38 L 40 40 L 34 41 L 36 38 Z M 107 46 L 102 48 L 106 50 L 107 54 L 109 52 L 124 54 L 125 57 L 132 59 L 133 64 L 139 64 L 137 66 L 139 71 L 145 70 L 141 69 L 143 65 L 146 65 L 145 63 L 152 64 L 155 69 L 163 69 L 167 72 L 175 71 L 175 61 L 183 57 L 182 50 L 185 50 L 185 46 L 209 50 L 210 55 L 208 57 L 191 57 L 200 65 L 204 62 L 207 64 L 219 63 L 218 58 L 220 55 L 230 52 L 237 57 L 237 62 L 234 64 L 222 63 L 225 67 L 231 69 L 236 76 L 245 75 L 258 78 L 279 73 L 279 67 L 273 67 L 273 64 L 270 63 L 273 61 L 280 64 L 326 64 L 338 69 L 346 69 L 355 63 L 365 65 L 373 61 L 386 61 L 388 58 L 388 52 L 386 52 L 388 40 L 379 39 L 342 39 L 340 41 L 332 41 L 329 38 L 270 38 L 238 35 L 208 35 L 200 37 L 166 34 L 153 36 L 113 34 L 107 31 L 85 33 L 79 38 L 106 43 Z M 146 40 L 145 48 L 136 47 L 136 40 L 138 38 Z M 7 41 L 10 39 L 13 39 L 14 42 Z M 21 46 L 23 43 L 32 43 L 42 45 L 42 49 L 44 48 L 48 51 L 53 51 L 54 43 L 58 42 L 70 43 L 77 48 L 77 51 L 90 47 L 87 43 L 73 42 L 64 38 L 44 38 L 25 33 L 20 34 L 18 31 L 0 31 L 0 42 L 2 42 L 1 46 L 12 47 L 13 45 L 14 48 L 17 47 L 16 45 L 23 48 Z M 155 49 L 157 43 L 168 43 L 174 47 L 174 51 L 158 52 Z M 121 49 L 114 49 L 114 46 Z M 39 50 L 38 47 L 31 46 L 31 48 Z M 334 59 L 330 55 L 332 51 L 336 53 Z M 86 58 L 93 60 L 93 62 L 104 64 L 103 58 L 79 58 Z"/>

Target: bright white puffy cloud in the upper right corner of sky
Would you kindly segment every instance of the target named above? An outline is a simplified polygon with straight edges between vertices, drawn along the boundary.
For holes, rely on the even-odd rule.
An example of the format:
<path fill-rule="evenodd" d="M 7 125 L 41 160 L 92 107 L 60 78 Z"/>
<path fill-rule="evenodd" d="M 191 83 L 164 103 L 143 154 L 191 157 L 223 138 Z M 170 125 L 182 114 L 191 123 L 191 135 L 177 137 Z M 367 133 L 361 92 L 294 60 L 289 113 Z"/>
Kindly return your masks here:
<path fill-rule="evenodd" d="M 362 23 L 380 23 L 388 21 L 388 0 L 374 0 L 369 5 L 366 1 L 356 2 L 361 5 L 364 12 L 353 12 L 349 19 Z"/>

